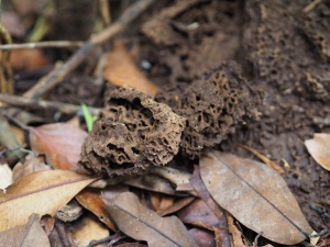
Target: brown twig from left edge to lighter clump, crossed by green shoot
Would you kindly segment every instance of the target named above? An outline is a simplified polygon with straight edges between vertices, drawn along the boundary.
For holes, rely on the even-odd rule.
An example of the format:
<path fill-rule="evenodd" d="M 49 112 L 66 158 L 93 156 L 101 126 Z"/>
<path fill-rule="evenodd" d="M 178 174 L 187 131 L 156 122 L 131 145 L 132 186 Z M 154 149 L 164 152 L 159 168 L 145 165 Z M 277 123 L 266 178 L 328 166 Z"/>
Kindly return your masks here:
<path fill-rule="evenodd" d="M 44 109 L 44 110 L 55 110 L 66 114 L 74 114 L 81 110 L 80 105 L 44 101 L 44 100 L 33 100 L 24 97 L 10 96 L 0 93 L 0 102 L 14 105 L 14 106 L 29 106 L 33 109 Z M 89 112 L 94 115 L 99 113 L 97 108 L 88 108 Z"/>

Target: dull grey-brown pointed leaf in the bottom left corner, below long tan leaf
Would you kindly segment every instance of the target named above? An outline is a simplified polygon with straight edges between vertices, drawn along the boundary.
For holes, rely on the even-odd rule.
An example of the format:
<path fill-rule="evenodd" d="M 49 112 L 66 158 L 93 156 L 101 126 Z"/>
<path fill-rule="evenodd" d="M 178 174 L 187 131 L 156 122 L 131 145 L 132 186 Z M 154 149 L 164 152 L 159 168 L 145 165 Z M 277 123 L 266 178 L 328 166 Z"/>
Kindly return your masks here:
<path fill-rule="evenodd" d="M 0 233 L 1 246 L 47 247 L 48 237 L 40 224 L 37 214 L 32 214 L 25 225 L 20 225 Z"/>

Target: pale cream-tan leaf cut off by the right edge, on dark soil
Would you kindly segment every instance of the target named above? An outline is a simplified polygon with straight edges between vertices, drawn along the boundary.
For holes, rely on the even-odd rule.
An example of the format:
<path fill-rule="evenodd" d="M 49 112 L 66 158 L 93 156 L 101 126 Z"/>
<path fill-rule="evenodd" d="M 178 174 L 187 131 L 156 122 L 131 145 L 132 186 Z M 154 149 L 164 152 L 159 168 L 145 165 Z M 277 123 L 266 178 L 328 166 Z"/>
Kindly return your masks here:
<path fill-rule="evenodd" d="M 330 170 L 330 134 L 315 133 L 312 139 L 306 139 L 311 157 L 326 170 Z"/>

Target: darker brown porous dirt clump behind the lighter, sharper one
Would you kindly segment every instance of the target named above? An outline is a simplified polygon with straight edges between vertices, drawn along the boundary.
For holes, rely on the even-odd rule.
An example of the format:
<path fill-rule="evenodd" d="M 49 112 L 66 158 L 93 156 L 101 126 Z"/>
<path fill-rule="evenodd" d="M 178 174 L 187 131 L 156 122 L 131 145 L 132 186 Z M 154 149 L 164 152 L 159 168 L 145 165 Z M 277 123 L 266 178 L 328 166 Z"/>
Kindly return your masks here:
<path fill-rule="evenodd" d="M 195 80 L 174 108 L 188 121 L 180 143 L 183 155 L 198 158 L 204 148 L 227 139 L 246 119 L 257 119 L 262 94 L 248 83 L 233 61 Z"/>

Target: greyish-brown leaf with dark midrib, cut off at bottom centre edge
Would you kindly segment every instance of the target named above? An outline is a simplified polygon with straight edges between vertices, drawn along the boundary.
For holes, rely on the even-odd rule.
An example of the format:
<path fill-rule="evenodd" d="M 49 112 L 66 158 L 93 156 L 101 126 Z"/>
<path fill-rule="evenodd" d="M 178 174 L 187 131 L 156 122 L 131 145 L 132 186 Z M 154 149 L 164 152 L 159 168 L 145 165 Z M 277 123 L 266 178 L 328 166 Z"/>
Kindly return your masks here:
<path fill-rule="evenodd" d="M 118 227 L 136 240 L 146 240 L 151 247 L 197 246 L 176 216 L 160 217 L 131 192 L 105 202 Z"/>

